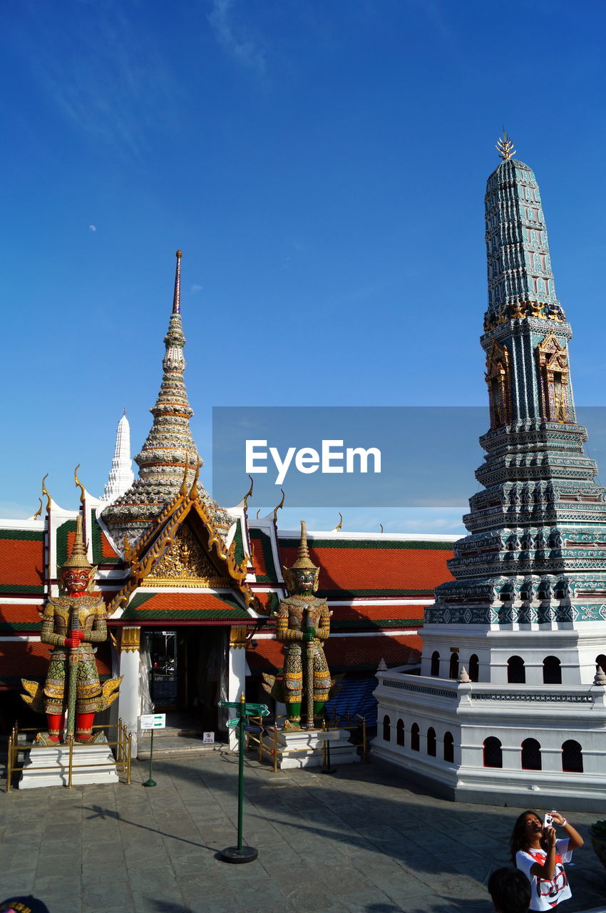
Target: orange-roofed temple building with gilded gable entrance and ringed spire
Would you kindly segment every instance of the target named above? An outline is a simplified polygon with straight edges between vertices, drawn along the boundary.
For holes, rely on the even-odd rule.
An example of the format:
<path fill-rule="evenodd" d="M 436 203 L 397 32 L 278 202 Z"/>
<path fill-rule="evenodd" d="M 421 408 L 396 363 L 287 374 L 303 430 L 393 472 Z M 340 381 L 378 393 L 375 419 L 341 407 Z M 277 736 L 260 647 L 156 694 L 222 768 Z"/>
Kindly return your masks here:
<path fill-rule="evenodd" d="M 14 719 L 40 725 L 24 716 L 21 679 L 44 681 L 41 616 L 58 593 L 58 569 L 73 547 L 78 513 L 95 589 L 108 611 L 110 637 L 95 656 L 99 677 L 123 677 L 118 700 L 98 715 L 100 722 L 113 713 L 136 735 L 141 713 L 153 704 L 187 716 L 192 729 L 226 738 L 218 701 L 237 700 L 245 687 L 247 698 L 265 700 L 263 674 L 284 666 L 274 612 L 287 596 L 282 568 L 296 560 L 299 534 L 278 529 L 278 509 L 250 516 L 250 492 L 225 509 L 204 488 L 184 345 L 177 252 L 162 383 L 150 433 L 135 457 L 138 477 L 132 476 L 123 415 L 101 498 L 82 488 L 79 509 L 64 509 L 43 482 L 46 503 L 35 517 L 0 520 L 0 689 L 7 728 Z M 332 613 L 327 660 L 333 673 L 345 675 L 336 698 L 340 713 L 362 712 L 372 725 L 377 667 L 418 670 L 417 629 L 434 586 L 449 576 L 455 538 L 308 532 L 310 559 L 320 568 L 318 596 Z"/>

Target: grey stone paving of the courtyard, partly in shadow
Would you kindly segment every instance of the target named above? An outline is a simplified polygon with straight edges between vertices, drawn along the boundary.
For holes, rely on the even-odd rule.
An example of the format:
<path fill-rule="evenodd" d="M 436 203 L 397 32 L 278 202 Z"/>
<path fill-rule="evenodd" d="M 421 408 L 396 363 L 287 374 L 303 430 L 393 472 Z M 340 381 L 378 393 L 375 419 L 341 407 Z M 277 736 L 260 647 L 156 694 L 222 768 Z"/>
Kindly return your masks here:
<path fill-rule="evenodd" d="M 33 893 L 50 913 L 451 913 L 489 911 L 518 810 L 450 803 L 369 764 L 273 773 L 246 760 L 245 843 L 236 843 L 237 757 L 224 748 L 148 767 L 132 785 L 0 794 L 0 898 Z M 566 809 L 562 810 L 566 813 Z M 564 913 L 606 910 L 606 869 L 586 838 Z"/>

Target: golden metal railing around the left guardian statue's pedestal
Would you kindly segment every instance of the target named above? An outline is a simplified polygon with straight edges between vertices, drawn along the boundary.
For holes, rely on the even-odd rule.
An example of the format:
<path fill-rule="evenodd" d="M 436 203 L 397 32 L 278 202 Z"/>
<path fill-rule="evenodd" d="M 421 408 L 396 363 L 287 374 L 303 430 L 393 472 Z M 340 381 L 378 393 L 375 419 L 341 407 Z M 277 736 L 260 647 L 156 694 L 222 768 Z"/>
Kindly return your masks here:
<path fill-rule="evenodd" d="M 17 771 L 60 771 L 62 774 L 65 771 L 68 771 L 68 782 L 65 784 L 68 789 L 71 789 L 73 783 L 73 772 L 82 771 L 86 768 L 94 767 L 97 770 L 100 768 L 107 767 L 108 769 L 115 768 L 117 771 L 120 770 L 121 773 L 126 775 L 127 786 L 131 785 L 131 759 L 132 759 L 132 733 L 126 727 L 126 723 L 120 718 L 118 723 L 114 723 L 111 726 L 93 726 L 93 729 L 116 729 L 116 740 L 108 742 L 99 742 L 95 747 L 99 745 L 107 745 L 108 748 L 115 748 L 114 757 L 115 761 L 98 761 L 94 764 L 80 763 L 79 761 L 74 762 L 74 741 L 70 740 L 67 744 L 56 743 L 57 748 L 68 749 L 68 763 L 67 764 L 53 764 L 51 766 L 45 765 L 41 767 L 39 765 L 33 764 L 19 764 L 19 754 L 25 753 L 26 751 L 31 751 L 36 748 L 51 748 L 53 746 L 42 746 L 37 745 L 36 742 L 24 742 L 19 741 L 19 735 L 25 732 L 36 732 L 37 729 L 19 729 L 17 724 L 13 727 L 10 736 L 8 737 L 8 752 L 6 758 L 6 792 L 11 791 L 11 782 L 13 780 L 13 774 Z M 90 746 L 91 748 L 93 746 Z M 78 748 L 87 748 L 86 742 L 79 742 Z"/>

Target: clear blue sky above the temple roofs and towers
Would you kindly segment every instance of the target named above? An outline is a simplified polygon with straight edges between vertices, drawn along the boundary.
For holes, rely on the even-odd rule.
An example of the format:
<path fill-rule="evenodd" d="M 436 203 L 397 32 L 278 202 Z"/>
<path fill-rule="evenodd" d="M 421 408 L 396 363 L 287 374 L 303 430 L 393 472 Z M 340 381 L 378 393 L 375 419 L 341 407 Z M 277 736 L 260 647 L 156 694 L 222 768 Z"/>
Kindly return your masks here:
<path fill-rule="evenodd" d="M 141 446 L 177 247 L 207 463 L 214 405 L 484 404 L 504 125 L 541 187 L 577 402 L 605 404 L 605 19 L 559 0 L 7 0 L 0 513 L 37 509 L 46 472 L 75 507 L 78 462 L 100 494 L 122 407 Z"/>

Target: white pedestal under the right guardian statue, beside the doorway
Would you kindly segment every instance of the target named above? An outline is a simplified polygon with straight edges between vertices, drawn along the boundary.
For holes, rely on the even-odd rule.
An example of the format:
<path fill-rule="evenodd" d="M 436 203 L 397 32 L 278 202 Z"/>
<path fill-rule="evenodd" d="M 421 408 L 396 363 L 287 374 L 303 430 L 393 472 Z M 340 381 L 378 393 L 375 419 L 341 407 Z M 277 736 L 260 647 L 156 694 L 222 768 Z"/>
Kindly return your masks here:
<path fill-rule="evenodd" d="M 275 730 L 266 729 L 263 745 L 273 751 Z M 360 761 L 356 747 L 350 742 L 348 729 L 287 729 L 277 730 L 277 766 L 280 770 L 292 767 L 321 767 L 323 762 L 322 743 L 330 745 L 330 764 L 353 764 Z"/>

